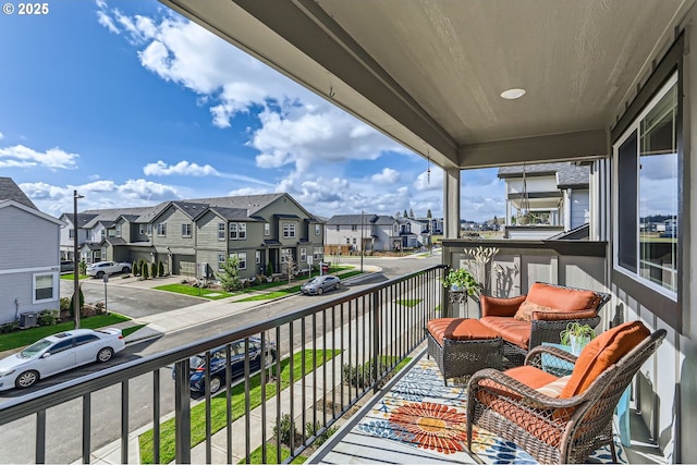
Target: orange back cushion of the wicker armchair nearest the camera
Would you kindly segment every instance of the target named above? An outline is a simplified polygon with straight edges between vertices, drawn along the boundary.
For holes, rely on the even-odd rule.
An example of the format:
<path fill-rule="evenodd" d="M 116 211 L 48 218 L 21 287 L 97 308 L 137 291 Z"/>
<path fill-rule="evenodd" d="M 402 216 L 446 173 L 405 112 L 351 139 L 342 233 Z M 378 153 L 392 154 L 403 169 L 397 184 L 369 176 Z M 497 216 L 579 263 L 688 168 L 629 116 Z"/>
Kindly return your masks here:
<path fill-rule="evenodd" d="M 566 399 L 583 393 L 600 374 L 649 334 L 649 330 L 641 321 L 628 321 L 598 335 L 578 355 L 571 379 L 560 397 Z"/>

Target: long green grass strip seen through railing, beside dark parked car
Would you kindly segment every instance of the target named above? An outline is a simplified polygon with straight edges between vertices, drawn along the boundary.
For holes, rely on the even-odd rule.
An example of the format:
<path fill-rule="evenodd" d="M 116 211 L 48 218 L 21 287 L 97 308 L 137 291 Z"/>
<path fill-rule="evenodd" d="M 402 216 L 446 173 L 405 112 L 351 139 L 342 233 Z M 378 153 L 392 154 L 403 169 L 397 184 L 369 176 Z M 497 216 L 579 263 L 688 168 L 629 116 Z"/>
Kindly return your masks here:
<path fill-rule="evenodd" d="M 313 371 L 313 355 L 316 355 L 318 367 L 325 362 L 337 356 L 341 351 L 301 351 L 293 355 L 293 379 L 299 380 L 303 376 L 302 359 L 305 357 L 305 375 Z M 276 382 L 270 383 L 267 388 L 266 400 L 276 395 Z M 286 389 L 291 384 L 290 358 L 281 360 L 281 390 Z M 216 433 L 227 426 L 225 394 L 221 390 L 218 395 L 210 400 L 210 418 L 211 433 Z M 242 417 L 245 412 L 245 392 L 244 382 L 232 388 L 232 420 Z M 252 409 L 261 405 L 261 375 L 257 374 L 249 378 L 249 406 Z M 174 418 L 170 418 L 160 425 L 160 462 L 170 463 L 174 460 Z M 191 409 L 191 446 L 194 448 L 206 440 L 206 402 L 201 402 Z M 152 463 L 152 430 L 147 430 L 138 437 L 140 448 L 140 462 L 144 464 Z"/>

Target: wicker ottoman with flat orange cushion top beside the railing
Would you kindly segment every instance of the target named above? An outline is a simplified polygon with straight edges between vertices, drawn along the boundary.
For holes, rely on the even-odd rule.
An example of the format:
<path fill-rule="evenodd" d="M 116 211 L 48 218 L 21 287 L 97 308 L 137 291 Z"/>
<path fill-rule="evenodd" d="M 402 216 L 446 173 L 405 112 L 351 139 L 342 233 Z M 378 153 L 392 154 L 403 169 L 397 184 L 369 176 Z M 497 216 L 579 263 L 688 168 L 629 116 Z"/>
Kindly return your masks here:
<path fill-rule="evenodd" d="M 443 381 L 473 375 L 481 368 L 501 369 L 503 340 L 476 319 L 436 318 L 426 327 L 428 356 L 433 357 Z"/>

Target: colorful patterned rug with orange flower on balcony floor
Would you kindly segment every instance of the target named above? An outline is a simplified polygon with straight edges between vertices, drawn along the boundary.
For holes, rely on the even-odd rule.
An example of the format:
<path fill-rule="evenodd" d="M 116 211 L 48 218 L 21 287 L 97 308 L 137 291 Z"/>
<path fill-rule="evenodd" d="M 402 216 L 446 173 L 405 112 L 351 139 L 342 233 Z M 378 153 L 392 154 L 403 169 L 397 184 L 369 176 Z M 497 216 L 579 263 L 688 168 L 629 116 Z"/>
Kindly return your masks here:
<path fill-rule="evenodd" d="M 465 387 L 443 386 L 433 359 L 423 357 L 358 423 L 352 430 L 353 439 L 348 438 L 348 441 L 380 451 L 380 462 L 476 463 L 465 452 Z M 615 449 L 620 462 L 626 463 L 619 438 Z M 474 429 L 473 452 L 485 463 L 536 463 L 514 443 L 477 427 Z M 390 454 L 393 456 L 389 457 Z M 413 460 L 405 458 L 409 455 Z M 356 458 L 348 462 L 359 462 Z M 589 462 L 611 463 L 610 448 L 596 451 Z"/>

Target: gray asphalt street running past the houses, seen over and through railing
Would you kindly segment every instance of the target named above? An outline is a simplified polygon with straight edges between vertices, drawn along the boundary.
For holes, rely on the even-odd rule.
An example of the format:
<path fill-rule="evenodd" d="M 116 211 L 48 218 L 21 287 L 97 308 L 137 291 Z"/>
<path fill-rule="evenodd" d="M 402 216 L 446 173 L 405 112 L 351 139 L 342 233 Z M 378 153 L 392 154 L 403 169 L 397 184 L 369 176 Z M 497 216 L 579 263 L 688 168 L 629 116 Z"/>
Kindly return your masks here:
<path fill-rule="evenodd" d="M 342 262 L 358 265 L 359 257 L 343 257 Z M 114 357 L 107 365 L 91 364 L 81 369 L 62 374 L 47 380 L 42 380 L 34 388 L 42 389 L 47 386 L 58 384 L 86 374 L 95 372 L 105 366 L 112 366 L 144 356 L 161 353 L 171 348 L 180 347 L 184 344 L 210 338 L 211 334 L 221 334 L 254 325 L 260 318 L 270 318 L 283 315 L 307 305 L 330 301 L 340 293 L 350 293 L 354 290 L 375 285 L 381 281 L 398 278 L 409 272 L 426 268 L 430 265 L 439 264 L 440 256 L 428 258 L 403 258 L 403 259 L 374 259 L 365 258 L 364 264 L 377 265 L 382 268 L 382 272 L 372 273 L 360 278 L 353 283 L 343 285 L 335 292 L 330 292 L 321 296 L 297 295 L 270 302 L 253 309 L 232 315 L 215 321 L 201 321 L 200 325 L 188 328 L 186 331 L 179 331 L 173 334 L 140 343 L 130 344 L 125 351 Z M 369 260 L 369 261 L 368 261 Z M 72 283 L 66 283 L 70 287 L 61 287 L 63 295 L 72 292 Z M 65 283 L 61 283 L 65 285 Z M 109 285 L 109 284 L 108 284 Z M 103 299 L 103 283 L 98 280 L 94 282 L 83 281 L 83 293 L 87 301 Z M 138 316 L 151 315 L 152 313 L 168 311 L 171 309 L 186 307 L 200 303 L 198 297 L 188 297 L 178 294 L 169 294 L 161 291 L 134 289 L 119 285 L 109 285 L 108 303 L 112 311 L 137 318 Z M 307 333 L 308 336 L 310 332 Z M 279 341 L 282 347 L 290 348 L 291 341 L 296 344 L 296 339 L 290 334 L 282 335 Z M 161 389 L 161 415 L 172 412 L 174 408 L 173 389 L 168 389 L 172 383 L 171 367 L 160 370 Z M 152 400 L 152 376 L 143 376 L 129 383 L 130 408 L 129 429 L 131 431 L 147 425 L 151 421 L 151 400 Z M 12 399 L 22 395 L 26 391 L 7 391 L 0 393 L 0 403 L 3 399 Z M 120 387 L 114 386 L 93 394 L 91 400 L 91 449 L 98 449 L 119 437 L 120 431 Z M 69 402 L 49 411 L 47 415 L 47 462 L 48 463 L 70 463 L 78 457 L 82 448 L 81 442 L 81 418 L 82 404 L 80 400 Z M 26 463 L 33 462 L 33 448 L 25 450 L 21 444 L 25 443 L 23 438 L 33 432 L 34 419 L 24 418 L 13 425 L 5 425 L 0 429 L 0 462 L 1 463 Z M 72 426 L 65 427 L 66 425 Z M 29 441 L 32 442 L 32 441 Z"/>

